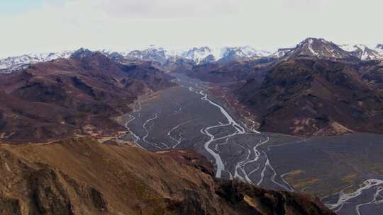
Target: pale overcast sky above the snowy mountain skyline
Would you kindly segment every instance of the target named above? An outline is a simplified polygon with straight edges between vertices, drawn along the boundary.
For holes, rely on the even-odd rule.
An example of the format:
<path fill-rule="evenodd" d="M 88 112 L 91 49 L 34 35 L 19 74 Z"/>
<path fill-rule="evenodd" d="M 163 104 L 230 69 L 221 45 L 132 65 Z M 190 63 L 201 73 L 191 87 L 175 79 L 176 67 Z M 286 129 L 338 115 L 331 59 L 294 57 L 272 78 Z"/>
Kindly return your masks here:
<path fill-rule="evenodd" d="M 383 0 L 1 0 L 0 57 L 157 45 L 383 42 Z"/>

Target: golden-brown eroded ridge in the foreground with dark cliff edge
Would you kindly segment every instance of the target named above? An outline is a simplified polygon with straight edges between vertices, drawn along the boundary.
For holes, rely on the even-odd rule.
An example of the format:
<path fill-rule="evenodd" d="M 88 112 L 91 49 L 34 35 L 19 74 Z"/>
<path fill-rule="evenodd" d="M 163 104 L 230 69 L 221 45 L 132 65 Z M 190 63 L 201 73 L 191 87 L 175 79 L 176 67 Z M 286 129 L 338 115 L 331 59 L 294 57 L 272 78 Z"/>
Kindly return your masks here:
<path fill-rule="evenodd" d="M 3 144 L 0 214 L 334 214 L 306 194 L 214 180 L 203 159 L 90 138 Z"/>

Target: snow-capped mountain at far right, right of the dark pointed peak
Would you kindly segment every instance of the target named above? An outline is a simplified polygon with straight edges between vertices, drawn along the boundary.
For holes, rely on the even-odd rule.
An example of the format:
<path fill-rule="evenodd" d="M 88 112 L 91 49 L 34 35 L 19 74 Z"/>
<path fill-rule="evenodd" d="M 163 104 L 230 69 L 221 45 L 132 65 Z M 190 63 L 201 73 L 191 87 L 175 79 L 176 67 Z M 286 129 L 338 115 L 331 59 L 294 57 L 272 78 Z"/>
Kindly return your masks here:
<path fill-rule="evenodd" d="M 367 45 L 340 45 L 343 50 L 352 53 L 355 57 L 362 60 L 382 59 L 382 55 L 377 50 L 372 50 Z"/>

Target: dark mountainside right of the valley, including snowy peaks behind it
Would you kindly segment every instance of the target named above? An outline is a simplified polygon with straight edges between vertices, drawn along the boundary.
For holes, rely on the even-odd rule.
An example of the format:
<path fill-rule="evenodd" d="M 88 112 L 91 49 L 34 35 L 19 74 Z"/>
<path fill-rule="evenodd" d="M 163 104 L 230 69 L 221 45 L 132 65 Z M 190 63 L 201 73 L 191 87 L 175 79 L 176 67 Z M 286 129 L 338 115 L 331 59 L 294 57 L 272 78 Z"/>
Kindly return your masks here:
<path fill-rule="evenodd" d="M 378 50 L 307 38 L 278 52 L 274 58 L 200 64 L 183 71 L 218 84 L 216 92 L 238 104 L 238 110 L 245 106 L 265 132 L 383 133 L 383 63 Z"/>

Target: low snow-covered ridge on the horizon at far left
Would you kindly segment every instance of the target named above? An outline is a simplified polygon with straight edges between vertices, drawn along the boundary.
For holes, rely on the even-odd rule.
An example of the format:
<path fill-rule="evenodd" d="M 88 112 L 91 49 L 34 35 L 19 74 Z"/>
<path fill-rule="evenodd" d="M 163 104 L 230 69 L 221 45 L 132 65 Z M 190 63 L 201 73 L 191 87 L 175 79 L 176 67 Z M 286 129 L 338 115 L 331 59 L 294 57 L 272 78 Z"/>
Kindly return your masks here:
<path fill-rule="evenodd" d="M 69 58 L 72 53 L 72 51 L 64 51 L 39 54 L 23 54 L 18 57 L 7 57 L 0 59 L 0 71 L 16 71 L 18 69 L 22 69 L 25 66 L 28 66 L 29 64 L 47 62 L 59 58 Z"/>

